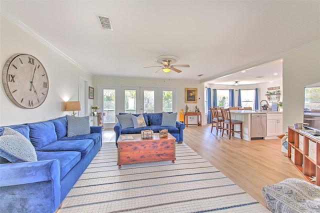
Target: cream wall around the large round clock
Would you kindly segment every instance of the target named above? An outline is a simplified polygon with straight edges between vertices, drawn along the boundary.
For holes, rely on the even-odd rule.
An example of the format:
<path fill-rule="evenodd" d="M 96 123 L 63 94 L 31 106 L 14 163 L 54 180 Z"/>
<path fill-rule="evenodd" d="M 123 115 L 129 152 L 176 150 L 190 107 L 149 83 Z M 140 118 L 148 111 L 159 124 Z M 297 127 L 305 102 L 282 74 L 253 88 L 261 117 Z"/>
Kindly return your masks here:
<path fill-rule="evenodd" d="M 41 61 L 49 79 L 46 100 L 34 109 L 23 109 L 14 105 L 6 96 L 1 81 L 0 125 L 41 121 L 70 114 L 64 111 L 64 101 L 78 100 L 79 76 L 87 79 L 89 85 L 92 85 L 91 75 L 3 16 L 0 25 L 0 66 L 3 67 L 13 54 L 31 54 Z M 91 100 L 88 105 L 92 105 L 92 102 Z"/>

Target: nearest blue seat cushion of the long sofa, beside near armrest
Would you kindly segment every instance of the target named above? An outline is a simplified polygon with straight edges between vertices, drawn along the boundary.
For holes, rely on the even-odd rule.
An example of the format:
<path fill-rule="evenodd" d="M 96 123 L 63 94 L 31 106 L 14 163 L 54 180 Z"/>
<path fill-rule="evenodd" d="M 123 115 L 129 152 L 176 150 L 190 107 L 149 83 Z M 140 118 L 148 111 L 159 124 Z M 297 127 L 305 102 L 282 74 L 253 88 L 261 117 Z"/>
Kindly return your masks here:
<path fill-rule="evenodd" d="M 58 159 L 60 161 L 60 179 L 81 159 L 79 151 L 36 151 L 38 160 Z"/>

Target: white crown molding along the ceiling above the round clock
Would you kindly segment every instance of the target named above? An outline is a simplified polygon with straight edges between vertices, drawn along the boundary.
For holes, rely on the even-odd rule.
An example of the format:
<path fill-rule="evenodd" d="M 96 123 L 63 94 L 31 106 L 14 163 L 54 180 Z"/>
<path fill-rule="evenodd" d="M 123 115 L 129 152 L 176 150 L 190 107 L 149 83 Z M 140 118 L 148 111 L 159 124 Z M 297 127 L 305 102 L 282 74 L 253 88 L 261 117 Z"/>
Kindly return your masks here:
<path fill-rule="evenodd" d="M 59 54 L 60 56 L 62 56 L 63 58 L 67 59 L 70 63 L 74 64 L 76 67 L 78 67 L 79 69 L 81 69 L 82 71 L 89 73 L 83 66 L 81 66 L 80 64 L 78 64 L 77 62 L 75 62 L 72 58 L 70 58 L 69 56 L 67 56 L 64 52 L 62 52 L 61 50 L 59 50 L 58 48 L 56 48 L 54 45 L 52 45 L 50 42 L 48 42 L 47 40 L 45 40 L 43 37 L 41 37 L 40 35 L 38 35 L 37 33 L 35 33 L 29 26 L 27 26 L 26 24 L 24 24 L 22 21 L 20 21 L 19 19 L 17 19 L 16 17 L 14 17 L 12 14 L 10 14 L 9 12 L 5 11 L 4 9 L 1 8 L 1 15 L 3 17 L 5 17 L 6 19 L 8 19 L 9 21 L 11 21 L 12 23 L 14 23 L 15 25 L 17 25 L 18 27 L 20 27 L 22 30 L 24 30 L 25 32 L 27 32 L 28 34 L 30 34 L 31 36 L 33 36 L 34 38 L 36 38 L 37 40 L 39 40 L 41 43 L 43 43 L 44 45 L 46 45 L 47 47 L 49 47 L 50 49 L 52 49 L 54 52 L 56 52 L 57 54 Z M 90 73 L 89 73 L 90 74 Z"/>

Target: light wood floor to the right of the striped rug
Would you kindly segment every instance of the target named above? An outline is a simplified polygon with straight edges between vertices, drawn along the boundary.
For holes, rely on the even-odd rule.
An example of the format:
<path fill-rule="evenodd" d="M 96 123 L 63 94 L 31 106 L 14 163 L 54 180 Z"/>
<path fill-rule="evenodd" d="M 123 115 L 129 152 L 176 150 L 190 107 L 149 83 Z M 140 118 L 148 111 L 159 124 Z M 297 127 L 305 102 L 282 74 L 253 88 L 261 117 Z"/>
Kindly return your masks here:
<path fill-rule="evenodd" d="M 281 152 L 280 139 L 246 141 L 205 126 L 188 126 L 183 142 L 266 206 L 261 188 L 288 177 L 304 179 L 288 157 Z M 235 133 L 236 134 L 236 133 Z"/>

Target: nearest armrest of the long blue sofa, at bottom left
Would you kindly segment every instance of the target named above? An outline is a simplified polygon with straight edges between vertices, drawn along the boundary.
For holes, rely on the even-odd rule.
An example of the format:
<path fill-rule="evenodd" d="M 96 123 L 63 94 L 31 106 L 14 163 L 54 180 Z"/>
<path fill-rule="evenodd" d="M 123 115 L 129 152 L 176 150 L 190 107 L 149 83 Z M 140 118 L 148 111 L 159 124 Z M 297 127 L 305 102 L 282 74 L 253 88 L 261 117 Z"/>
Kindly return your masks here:
<path fill-rule="evenodd" d="M 0 164 L 0 212 L 54 212 L 60 204 L 59 160 Z"/>

